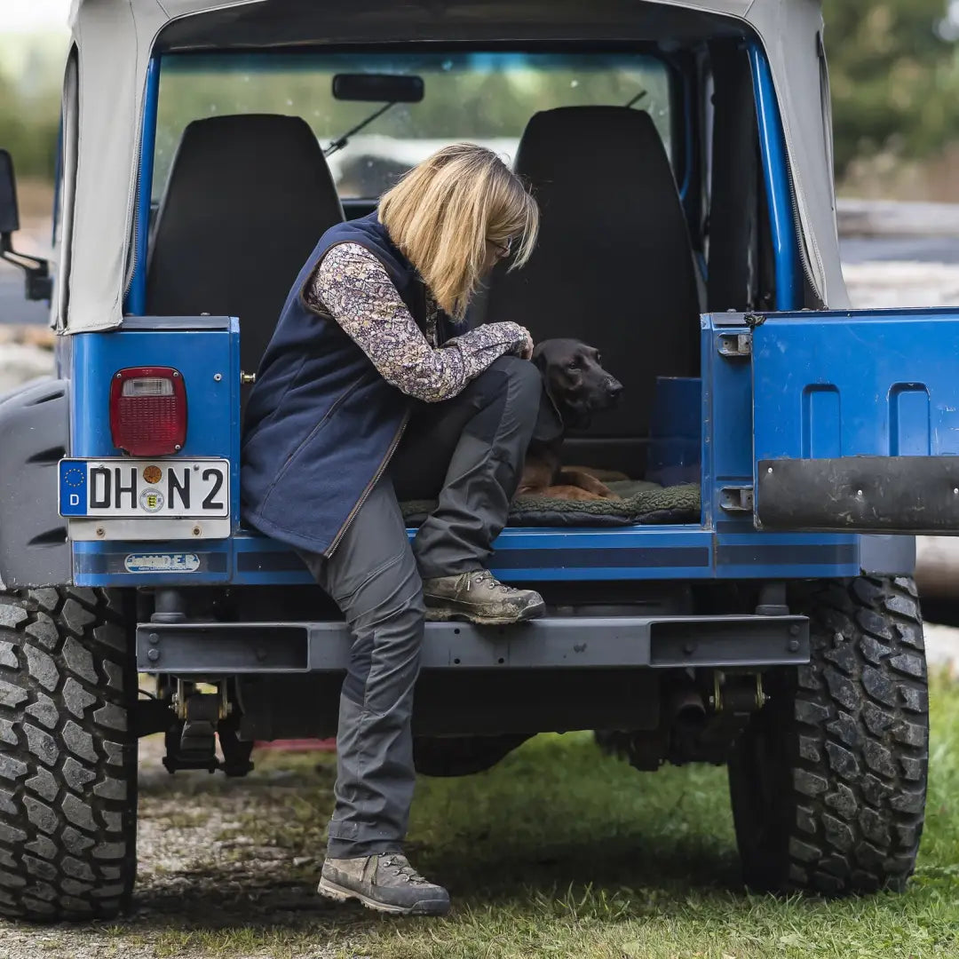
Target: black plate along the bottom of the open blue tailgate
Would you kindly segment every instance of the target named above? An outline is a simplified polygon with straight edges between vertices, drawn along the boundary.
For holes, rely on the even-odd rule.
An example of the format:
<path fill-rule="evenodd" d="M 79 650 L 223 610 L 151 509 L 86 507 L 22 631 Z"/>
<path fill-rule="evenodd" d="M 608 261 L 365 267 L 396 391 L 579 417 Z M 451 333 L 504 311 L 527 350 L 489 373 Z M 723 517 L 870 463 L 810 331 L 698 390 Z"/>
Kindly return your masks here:
<path fill-rule="evenodd" d="M 959 456 L 761 460 L 756 515 L 772 530 L 959 533 Z"/>

